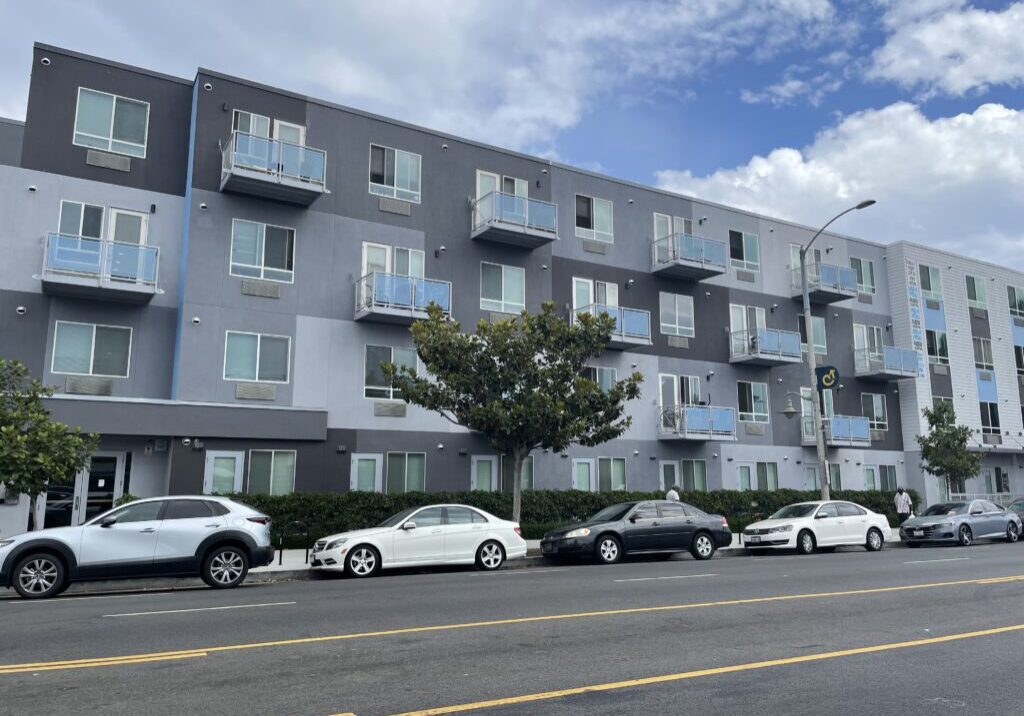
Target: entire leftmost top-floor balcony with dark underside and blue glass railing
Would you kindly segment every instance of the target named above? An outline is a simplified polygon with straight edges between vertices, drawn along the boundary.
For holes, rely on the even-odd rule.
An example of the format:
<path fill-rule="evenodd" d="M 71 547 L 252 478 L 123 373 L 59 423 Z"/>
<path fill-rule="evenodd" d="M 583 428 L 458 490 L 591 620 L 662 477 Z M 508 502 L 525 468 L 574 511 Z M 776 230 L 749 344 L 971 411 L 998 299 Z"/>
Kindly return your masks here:
<path fill-rule="evenodd" d="M 301 206 L 327 194 L 323 150 L 234 131 L 221 155 L 221 192 Z"/>

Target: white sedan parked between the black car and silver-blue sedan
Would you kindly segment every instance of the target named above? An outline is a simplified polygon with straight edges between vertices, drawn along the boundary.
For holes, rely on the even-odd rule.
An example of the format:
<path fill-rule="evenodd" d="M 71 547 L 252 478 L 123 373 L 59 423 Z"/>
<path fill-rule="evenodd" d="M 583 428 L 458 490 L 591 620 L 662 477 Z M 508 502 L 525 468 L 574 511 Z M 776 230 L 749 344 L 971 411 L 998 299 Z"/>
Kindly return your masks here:
<path fill-rule="evenodd" d="M 889 539 L 889 519 L 852 502 L 800 502 L 783 507 L 768 519 L 743 530 L 743 546 L 751 550 L 816 549 L 859 545 L 877 552 Z"/>

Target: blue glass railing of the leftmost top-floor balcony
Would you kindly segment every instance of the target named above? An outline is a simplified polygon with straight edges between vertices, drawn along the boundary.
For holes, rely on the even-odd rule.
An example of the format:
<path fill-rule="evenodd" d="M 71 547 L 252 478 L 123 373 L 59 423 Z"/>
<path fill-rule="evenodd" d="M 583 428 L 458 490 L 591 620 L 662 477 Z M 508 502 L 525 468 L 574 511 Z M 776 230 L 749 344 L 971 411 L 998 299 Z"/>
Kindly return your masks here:
<path fill-rule="evenodd" d="M 288 180 L 326 189 L 327 153 L 281 139 L 233 131 L 223 150 L 222 170 L 244 169 L 263 173 L 274 181 Z"/>

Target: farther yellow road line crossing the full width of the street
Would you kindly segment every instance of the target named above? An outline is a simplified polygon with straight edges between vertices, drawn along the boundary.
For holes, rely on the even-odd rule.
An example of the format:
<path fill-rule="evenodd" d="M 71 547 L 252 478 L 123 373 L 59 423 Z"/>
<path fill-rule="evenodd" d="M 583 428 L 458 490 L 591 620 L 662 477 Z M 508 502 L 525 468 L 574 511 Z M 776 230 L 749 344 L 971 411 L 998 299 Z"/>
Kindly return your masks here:
<path fill-rule="evenodd" d="M 350 639 L 370 639 L 386 636 L 402 636 L 407 634 L 425 634 L 433 632 L 456 631 L 461 629 L 480 629 L 484 627 L 501 627 L 516 624 L 536 624 L 541 622 L 559 622 L 573 619 L 595 619 L 601 617 L 623 617 L 629 615 L 658 614 L 664 612 L 680 612 L 684 609 L 699 609 L 713 606 L 742 606 L 749 604 L 767 604 L 774 602 L 797 601 L 804 599 L 825 599 L 833 597 L 861 596 L 865 594 L 887 594 L 906 592 L 920 589 L 937 589 L 944 587 L 963 587 L 969 585 L 992 585 L 1007 582 L 1024 581 L 1024 575 L 993 577 L 973 580 L 957 580 L 953 582 L 929 582 L 925 584 L 908 584 L 898 587 L 871 587 L 866 589 L 849 589 L 838 592 L 812 592 L 809 594 L 780 594 L 766 597 L 749 597 L 744 599 L 724 599 L 720 601 L 701 601 L 685 604 L 667 604 L 663 606 L 635 606 L 622 609 L 605 609 L 602 612 L 577 612 L 568 614 L 547 615 L 543 617 L 517 617 L 512 619 L 497 619 L 484 622 L 464 622 L 460 624 L 437 624 L 423 627 L 403 627 L 371 632 L 355 632 L 351 634 L 330 634 L 327 636 L 308 636 L 296 639 L 280 639 L 276 641 L 258 641 L 246 644 L 229 644 L 225 646 L 201 646 L 177 651 L 156 651 L 153 654 L 133 654 L 120 657 L 99 657 L 92 659 L 77 659 L 61 662 L 36 662 L 29 664 L 0 664 L 0 675 L 20 673 L 25 671 L 43 671 L 58 668 L 85 668 L 89 666 L 116 666 L 142 659 L 161 660 L 168 657 L 203 656 L 219 651 L 242 651 L 255 648 L 270 648 L 274 646 L 296 646 L 315 644 L 329 641 L 346 641 Z"/>

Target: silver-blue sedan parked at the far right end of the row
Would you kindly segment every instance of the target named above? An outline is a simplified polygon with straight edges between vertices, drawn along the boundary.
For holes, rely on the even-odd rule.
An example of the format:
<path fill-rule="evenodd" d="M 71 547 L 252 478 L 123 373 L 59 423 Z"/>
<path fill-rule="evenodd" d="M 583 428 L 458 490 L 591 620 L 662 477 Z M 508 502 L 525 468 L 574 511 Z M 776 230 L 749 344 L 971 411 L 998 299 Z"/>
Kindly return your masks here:
<path fill-rule="evenodd" d="M 1017 542 L 1021 518 L 988 500 L 942 502 L 907 519 L 899 534 L 907 547 L 930 542 L 955 542 L 967 547 L 983 539 Z"/>

